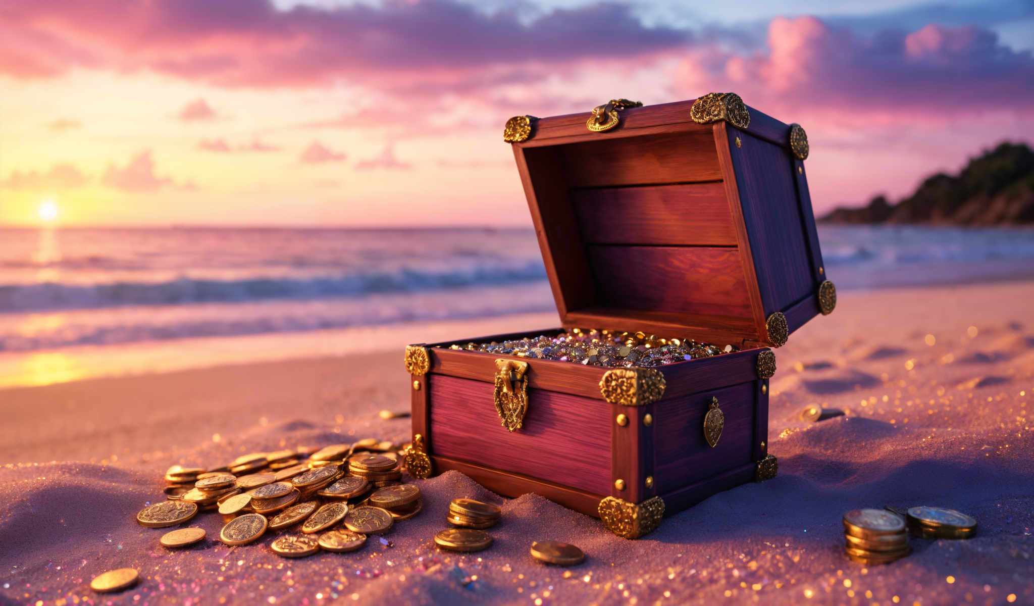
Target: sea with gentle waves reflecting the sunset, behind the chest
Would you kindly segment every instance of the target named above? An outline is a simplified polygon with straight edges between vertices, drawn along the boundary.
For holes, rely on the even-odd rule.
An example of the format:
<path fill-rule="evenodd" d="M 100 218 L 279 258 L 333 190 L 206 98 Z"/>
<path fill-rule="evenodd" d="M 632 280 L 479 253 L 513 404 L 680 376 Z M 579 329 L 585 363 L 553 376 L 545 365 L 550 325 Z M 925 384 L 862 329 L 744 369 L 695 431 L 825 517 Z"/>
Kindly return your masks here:
<path fill-rule="evenodd" d="M 821 226 L 819 236 L 842 292 L 1034 269 L 1032 230 Z M 0 229 L 8 357 L 554 309 L 530 229 Z"/>

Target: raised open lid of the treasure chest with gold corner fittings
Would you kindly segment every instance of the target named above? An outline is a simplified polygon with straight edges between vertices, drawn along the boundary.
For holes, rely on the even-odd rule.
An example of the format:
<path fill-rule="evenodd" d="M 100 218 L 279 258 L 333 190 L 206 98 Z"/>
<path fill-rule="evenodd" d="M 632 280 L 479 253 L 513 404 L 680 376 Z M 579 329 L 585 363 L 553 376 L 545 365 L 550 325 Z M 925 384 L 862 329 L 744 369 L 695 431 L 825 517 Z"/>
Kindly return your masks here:
<path fill-rule="evenodd" d="M 507 122 L 565 327 L 742 347 L 837 303 L 808 137 L 733 93 Z"/>

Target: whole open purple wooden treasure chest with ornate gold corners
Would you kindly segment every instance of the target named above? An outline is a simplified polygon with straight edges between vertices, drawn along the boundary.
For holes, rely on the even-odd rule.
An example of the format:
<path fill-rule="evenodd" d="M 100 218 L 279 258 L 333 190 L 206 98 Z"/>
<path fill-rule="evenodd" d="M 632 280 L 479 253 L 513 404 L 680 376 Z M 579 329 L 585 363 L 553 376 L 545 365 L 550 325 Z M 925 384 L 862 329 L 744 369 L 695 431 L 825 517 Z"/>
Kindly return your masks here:
<path fill-rule="evenodd" d="M 535 492 L 628 538 L 776 476 L 770 347 L 837 302 L 804 130 L 711 93 L 518 116 L 504 138 L 562 328 L 406 347 L 410 474 Z"/>

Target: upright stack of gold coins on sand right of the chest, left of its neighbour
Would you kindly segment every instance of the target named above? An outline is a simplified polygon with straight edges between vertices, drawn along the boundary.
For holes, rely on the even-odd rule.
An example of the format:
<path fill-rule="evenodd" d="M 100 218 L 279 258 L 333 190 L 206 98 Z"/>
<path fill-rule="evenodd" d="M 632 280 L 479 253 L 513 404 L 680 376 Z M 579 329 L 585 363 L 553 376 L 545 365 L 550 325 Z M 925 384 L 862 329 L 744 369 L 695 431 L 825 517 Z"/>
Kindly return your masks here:
<path fill-rule="evenodd" d="M 889 564 L 912 552 L 905 520 L 882 509 L 856 509 L 844 514 L 844 554 L 852 562 Z"/>

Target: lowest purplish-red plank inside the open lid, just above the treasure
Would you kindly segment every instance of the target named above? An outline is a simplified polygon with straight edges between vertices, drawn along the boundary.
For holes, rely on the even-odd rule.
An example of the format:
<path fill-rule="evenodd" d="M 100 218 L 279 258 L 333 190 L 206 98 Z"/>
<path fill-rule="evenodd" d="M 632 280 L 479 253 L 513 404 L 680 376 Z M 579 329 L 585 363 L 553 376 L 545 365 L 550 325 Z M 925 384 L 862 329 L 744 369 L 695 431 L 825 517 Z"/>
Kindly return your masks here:
<path fill-rule="evenodd" d="M 587 251 L 603 307 L 752 317 L 735 248 L 590 245 Z"/>

